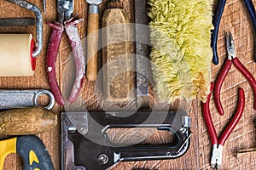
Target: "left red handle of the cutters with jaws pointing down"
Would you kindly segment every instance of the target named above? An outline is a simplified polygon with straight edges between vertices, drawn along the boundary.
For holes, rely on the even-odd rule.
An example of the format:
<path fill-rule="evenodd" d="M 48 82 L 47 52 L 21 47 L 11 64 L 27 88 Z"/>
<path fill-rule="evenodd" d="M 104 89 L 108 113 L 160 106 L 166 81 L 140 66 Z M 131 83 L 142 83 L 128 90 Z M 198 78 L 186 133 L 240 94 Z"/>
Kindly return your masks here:
<path fill-rule="evenodd" d="M 210 99 L 211 99 L 211 94 L 212 94 L 212 89 L 213 89 L 213 82 L 211 83 L 211 92 L 210 94 L 208 94 L 207 96 L 207 102 L 206 103 L 201 103 L 202 105 L 202 113 L 203 113 L 203 117 L 207 126 L 207 131 L 209 133 L 209 137 L 211 139 L 211 143 L 212 144 L 218 144 L 218 137 L 217 137 L 217 133 L 215 131 L 213 122 L 212 122 L 212 116 L 210 113 Z"/>

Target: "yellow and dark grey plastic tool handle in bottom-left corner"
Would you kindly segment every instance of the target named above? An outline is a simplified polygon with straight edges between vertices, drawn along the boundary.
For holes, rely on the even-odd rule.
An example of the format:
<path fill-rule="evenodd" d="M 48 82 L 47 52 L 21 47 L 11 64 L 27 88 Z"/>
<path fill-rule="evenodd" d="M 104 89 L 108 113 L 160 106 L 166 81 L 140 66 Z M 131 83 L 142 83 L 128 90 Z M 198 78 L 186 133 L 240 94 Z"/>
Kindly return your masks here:
<path fill-rule="evenodd" d="M 27 135 L 0 141 L 0 170 L 3 170 L 4 159 L 10 153 L 21 156 L 24 170 L 54 170 L 44 143 L 37 136 Z"/>

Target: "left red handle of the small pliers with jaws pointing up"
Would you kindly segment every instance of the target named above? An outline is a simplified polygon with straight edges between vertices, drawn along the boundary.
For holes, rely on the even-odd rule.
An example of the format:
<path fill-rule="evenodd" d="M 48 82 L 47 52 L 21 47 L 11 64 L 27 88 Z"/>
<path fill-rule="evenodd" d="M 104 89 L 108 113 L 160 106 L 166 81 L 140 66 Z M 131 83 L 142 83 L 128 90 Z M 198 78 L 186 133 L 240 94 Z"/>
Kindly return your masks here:
<path fill-rule="evenodd" d="M 218 73 L 218 77 L 217 77 L 217 80 L 215 81 L 215 87 L 213 90 L 214 102 L 215 102 L 217 110 L 221 116 L 224 115 L 224 111 L 223 111 L 223 107 L 222 107 L 221 101 L 220 101 L 220 90 L 221 90 L 221 87 L 222 87 L 225 77 L 227 76 L 227 74 L 230 71 L 231 65 L 232 65 L 232 61 L 230 59 L 226 59 L 222 70 Z"/>

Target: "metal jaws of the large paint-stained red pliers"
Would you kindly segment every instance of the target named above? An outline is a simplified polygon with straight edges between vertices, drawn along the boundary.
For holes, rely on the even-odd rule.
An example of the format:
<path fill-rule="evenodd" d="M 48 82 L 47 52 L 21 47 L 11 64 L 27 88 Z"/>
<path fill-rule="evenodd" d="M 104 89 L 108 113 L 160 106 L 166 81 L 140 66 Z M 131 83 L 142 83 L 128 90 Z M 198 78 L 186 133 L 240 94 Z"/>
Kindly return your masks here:
<path fill-rule="evenodd" d="M 73 17 L 73 0 L 57 0 L 58 21 L 63 24 L 65 20 Z"/>

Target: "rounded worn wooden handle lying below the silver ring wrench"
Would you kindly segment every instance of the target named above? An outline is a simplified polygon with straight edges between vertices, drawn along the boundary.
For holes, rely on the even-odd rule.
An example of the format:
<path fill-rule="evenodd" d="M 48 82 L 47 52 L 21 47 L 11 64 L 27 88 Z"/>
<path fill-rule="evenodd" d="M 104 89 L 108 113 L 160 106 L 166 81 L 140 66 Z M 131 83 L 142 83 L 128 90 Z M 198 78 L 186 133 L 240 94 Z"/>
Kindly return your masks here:
<path fill-rule="evenodd" d="M 45 133 L 57 124 L 55 113 L 40 107 L 0 112 L 0 134 L 27 135 Z"/>

